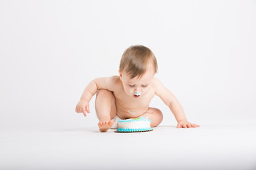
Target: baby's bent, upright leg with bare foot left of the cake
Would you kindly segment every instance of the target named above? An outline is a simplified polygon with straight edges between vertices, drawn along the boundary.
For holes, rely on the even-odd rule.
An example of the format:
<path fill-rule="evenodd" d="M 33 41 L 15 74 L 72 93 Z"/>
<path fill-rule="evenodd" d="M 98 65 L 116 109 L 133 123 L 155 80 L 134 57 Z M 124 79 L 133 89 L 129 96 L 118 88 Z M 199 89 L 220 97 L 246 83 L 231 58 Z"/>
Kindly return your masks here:
<path fill-rule="evenodd" d="M 112 91 L 105 89 L 97 91 L 95 100 L 95 109 L 97 118 L 99 119 L 98 126 L 101 132 L 107 130 L 113 125 L 114 121 L 111 120 L 117 115 L 117 107 L 115 105 L 115 98 Z"/>

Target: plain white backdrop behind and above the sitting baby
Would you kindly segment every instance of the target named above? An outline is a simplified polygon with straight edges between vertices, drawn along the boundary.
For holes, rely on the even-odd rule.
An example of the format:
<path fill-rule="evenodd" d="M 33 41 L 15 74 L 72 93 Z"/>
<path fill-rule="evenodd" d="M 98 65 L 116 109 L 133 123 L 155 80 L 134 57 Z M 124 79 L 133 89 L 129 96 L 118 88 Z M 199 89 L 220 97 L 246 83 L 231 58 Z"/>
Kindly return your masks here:
<path fill-rule="evenodd" d="M 149 47 L 188 120 L 256 120 L 256 1 L 0 1 L 0 128 L 97 126 L 75 113 L 85 86 Z M 174 116 L 155 97 L 151 106 Z"/>

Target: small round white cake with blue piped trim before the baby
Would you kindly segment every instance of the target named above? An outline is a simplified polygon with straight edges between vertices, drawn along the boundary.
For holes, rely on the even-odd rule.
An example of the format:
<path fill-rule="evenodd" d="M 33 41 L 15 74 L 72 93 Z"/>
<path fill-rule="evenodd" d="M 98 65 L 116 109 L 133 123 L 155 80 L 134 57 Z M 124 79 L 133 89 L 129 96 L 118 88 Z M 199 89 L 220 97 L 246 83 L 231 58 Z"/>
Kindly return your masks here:
<path fill-rule="evenodd" d="M 149 118 L 134 118 L 118 120 L 117 131 L 114 132 L 147 132 L 153 130 L 150 126 Z"/>

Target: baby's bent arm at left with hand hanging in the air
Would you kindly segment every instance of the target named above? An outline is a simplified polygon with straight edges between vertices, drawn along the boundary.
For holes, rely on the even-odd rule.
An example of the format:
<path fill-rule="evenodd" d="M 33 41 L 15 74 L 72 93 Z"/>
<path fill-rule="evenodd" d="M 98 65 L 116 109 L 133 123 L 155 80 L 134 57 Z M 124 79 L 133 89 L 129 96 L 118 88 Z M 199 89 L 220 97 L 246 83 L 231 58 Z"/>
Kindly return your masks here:
<path fill-rule="evenodd" d="M 89 102 L 92 99 L 99 89 L 107 89 L 112 91 L 114 86 L 114 77 L 102 77 L 97 78 L 92 81 L 85 87 L 85 90 L 82 93 L 80 101 L 75 107 L 77 113 L 83 113 L 86 116 L 86 112 L 90 113 Z"/>

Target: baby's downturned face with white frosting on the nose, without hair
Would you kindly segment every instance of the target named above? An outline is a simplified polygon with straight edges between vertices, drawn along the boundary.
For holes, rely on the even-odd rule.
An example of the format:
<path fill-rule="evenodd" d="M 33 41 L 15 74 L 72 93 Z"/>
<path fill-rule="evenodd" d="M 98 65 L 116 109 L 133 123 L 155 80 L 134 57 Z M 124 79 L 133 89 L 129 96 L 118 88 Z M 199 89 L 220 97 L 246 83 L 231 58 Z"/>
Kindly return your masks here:
<path fill-rule="evenodd" d="M 139 79 L 134 77 L 130 79 L 129 75 L 126 73 L 120 73 L 120 79 L 124 87 L 124 91 L 127 95 L 133 96 L 134 98 L 139 98 L 145 95 L 154 80 L 154 67 L 152 64 L 148 64 L 145 74 Z"/>

